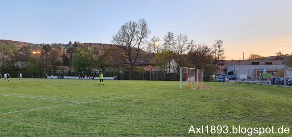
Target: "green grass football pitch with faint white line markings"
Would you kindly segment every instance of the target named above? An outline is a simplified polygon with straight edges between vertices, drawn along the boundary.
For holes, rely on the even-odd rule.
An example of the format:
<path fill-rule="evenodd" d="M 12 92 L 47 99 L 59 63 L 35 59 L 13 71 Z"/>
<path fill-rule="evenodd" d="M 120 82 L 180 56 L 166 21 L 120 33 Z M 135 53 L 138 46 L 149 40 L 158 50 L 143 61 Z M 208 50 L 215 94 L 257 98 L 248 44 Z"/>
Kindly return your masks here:
<path fill-rule="evenodd" d="M 181 90 L 178 81 L 43 80 L 0 79 L 0 137 L 248 137 L 230 134 L 233 125 L 283 125 L 289 134 L 261 137 L 292 137 L 291 88 L 205 82 L 213 89 Z M 228 133 L 225 126 L 211 134 L 211 125 L 227 125 Z M 191 126 L 196 132 L 203 126 L 203 133 L 188 134 Z"/>

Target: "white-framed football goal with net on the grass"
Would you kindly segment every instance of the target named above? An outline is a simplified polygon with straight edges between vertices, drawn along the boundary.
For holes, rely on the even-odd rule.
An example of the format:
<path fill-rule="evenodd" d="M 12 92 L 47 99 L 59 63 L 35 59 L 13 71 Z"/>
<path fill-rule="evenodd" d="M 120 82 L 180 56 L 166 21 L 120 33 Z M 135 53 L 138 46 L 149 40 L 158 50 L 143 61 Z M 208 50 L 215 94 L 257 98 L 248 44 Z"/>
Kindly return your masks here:
<path fill-rule="evenodd" d="M 204 86 L 203 69 L 181 67 L 181 89 L 201 89 Z"/>

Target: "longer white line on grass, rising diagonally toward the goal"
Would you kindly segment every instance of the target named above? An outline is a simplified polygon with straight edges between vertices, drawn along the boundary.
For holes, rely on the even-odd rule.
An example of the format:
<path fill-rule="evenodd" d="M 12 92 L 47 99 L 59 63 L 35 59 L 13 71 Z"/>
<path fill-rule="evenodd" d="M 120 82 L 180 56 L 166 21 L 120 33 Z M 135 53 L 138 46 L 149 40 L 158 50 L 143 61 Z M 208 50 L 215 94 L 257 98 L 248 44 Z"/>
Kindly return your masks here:
<path fill-rule="evenodd" d="M 157 92 L 144 93 L 144 94 L 136 94 L 136 95 L 126 95 L 126 96 L 112 97 L 112 98 L 106 98 L 106 99 L 100 99 L 100 100 L 93 100 L 93 101 L 88 101 L 88 102 L 78 102 L 78 103 L 73 103 L 73 104 L 58 105 L 58 106 L 52 106 L 52 107 L 40 107 L 40 108 L 33 108 L 33 109 L 27 109 L 27 110 L 19 110 L 19 111 L 1 113 L 0 115 L 17 113 L 17 112 L 26 112 L 26 111 L 32 111 L 32 110 L 39 110 L 39 109 L 47 109 L 47 108 L 53 108 L 53 107 L 71 106 L 71 105 L 76 105 L 76 104 L 85 104 L 85 103 L 91 103 L 91 102 L 97 102 L 97 101 L 104 101 L 104 100 L 110 100 L 110 99 L 117 99 L 117 98 L 123 98 L 123 97 L 139 96 L 139 95 L 146 95 L 146 94 L 155 94 L 155 93 L 159 93 L 159 92 L 164 92 L 164 91 L 157 91 Z"/>

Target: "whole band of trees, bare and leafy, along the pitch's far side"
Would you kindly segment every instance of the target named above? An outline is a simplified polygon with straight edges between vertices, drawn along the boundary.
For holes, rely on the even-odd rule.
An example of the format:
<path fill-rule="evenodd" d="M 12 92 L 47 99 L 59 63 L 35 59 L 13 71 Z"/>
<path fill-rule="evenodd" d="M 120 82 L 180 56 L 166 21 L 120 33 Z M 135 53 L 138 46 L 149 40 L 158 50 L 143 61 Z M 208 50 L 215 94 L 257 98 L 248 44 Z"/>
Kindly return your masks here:
<path fill-rule="evenodd" d="M 0 41 L 0 69 L 2 71 L 37 70 L 56 75 L 59 70 L 69 72 L 129 70 L 131 78 L 138 59 L 150 59 L 151 66 L 171 73 L 171 61 L 176 63 L 175 72 L 181 66 L 204 69 L 206 75 L 224 65 L 223 41 L 214 45 L 196 44 L 185 34 L 169 31 L 163 38 L 147 40 L 150 34 L 145 19 L 128 21 L 112 36 L 112 44 L 92 44 L 71 41 L 68 44 L 28 44 Z M 157 70 L 158 71 L 158 70 Z M 152 73 L 152 72 L 151 72 Z"/>

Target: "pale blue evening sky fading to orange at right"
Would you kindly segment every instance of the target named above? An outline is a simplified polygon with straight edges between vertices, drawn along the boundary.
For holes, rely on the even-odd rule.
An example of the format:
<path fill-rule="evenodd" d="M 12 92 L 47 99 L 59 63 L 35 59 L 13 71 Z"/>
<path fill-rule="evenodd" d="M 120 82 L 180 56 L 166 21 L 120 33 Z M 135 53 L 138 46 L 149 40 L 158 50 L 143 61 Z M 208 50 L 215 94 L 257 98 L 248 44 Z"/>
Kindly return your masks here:
<path fill-rule="evenodd" d="M 212 46 L 227 60 L 292 52 L 292 0 L 0 0 L 0 39 L 34 44 L 110 44 L 127 21 L 145 18 L 153 36 L 168 31 Z"/>

